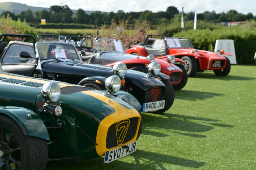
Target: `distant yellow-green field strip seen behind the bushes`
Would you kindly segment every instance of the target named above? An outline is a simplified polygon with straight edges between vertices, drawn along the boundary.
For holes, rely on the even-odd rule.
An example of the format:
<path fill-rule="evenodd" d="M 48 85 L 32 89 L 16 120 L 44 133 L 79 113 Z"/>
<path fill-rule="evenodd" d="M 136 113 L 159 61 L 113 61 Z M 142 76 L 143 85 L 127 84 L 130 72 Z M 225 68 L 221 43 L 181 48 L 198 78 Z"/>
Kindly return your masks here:
<path fill-rule="evenodd" d="M 61 29 L 43 29 L 43 28 L 39 28 L 36 29 L 38 33 L 52 33 L 52 34 L 57 34 L 57 35 L 61 35 Z M 63 34 L 67 34 L 67 33 L 71 33 L 71 34 L 96 34 L 95 29 L 63 29 Z M 128 30 L 126 30 L 128 31 Z M 136 30 L 133 31 L 129 31 L 130 34 L 133 34 Z M 149 34 L 156 32 L 155 30 L 150 30 Z"/>

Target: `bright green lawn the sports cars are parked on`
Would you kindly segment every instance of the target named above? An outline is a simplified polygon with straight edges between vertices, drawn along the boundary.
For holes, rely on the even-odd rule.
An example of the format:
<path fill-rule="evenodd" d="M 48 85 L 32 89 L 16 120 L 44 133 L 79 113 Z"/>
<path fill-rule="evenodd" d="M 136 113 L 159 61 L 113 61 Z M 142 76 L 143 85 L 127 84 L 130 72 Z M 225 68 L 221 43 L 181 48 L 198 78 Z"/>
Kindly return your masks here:
<path fill-rule="evenodd" d="M 255 69 L 232 65 L 227 77 L 189 78 L 166 113 L 143 114 L 137 151 L 127 157 L 106 165 L 103 157 L 54 161 L 46 170 L 255 170 Z"/>

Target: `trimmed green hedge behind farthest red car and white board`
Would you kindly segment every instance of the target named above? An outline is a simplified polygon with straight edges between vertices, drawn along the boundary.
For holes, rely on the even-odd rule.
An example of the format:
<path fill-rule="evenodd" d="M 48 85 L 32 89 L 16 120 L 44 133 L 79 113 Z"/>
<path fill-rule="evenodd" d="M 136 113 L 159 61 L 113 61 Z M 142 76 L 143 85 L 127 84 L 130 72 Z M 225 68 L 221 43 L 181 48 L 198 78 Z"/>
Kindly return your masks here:
<path fill-rule="evenodd" d="M 232 39 L 235 44 L 237 64 L 255 64 L 253 59 L 256 50 L 256 31 L 242 28 L 222 28 L 215 30 L 188 30 L 179 32 L 173 37 L 187 37 L 193 47 L 208 50 L 209 46 L 215 47 L 217 39 Z"/>

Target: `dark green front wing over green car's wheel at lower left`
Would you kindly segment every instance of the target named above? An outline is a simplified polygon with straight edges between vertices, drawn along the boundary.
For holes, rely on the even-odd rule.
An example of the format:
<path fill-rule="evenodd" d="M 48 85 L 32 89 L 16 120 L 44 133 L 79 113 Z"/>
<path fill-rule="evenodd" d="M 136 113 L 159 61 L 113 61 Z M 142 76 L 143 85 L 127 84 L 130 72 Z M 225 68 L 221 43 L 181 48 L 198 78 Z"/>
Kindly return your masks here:
<path fill-rule="evenodd" d="M 24 135 L 51 141 L 43 121 L 34 112 L 23 107 L 0 106 L 0 113 L 12 118 Z"/>

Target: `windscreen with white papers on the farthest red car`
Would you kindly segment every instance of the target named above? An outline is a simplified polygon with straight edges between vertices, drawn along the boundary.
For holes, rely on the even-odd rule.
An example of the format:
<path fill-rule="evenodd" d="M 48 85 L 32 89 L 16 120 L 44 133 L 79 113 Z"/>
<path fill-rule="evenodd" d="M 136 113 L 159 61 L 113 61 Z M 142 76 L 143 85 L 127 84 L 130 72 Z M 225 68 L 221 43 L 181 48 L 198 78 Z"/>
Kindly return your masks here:
<path fill-rule="evenodd" d="M 169 48 L 193 48 L 186 38 L 166 38 L 166 41 Z"/>

